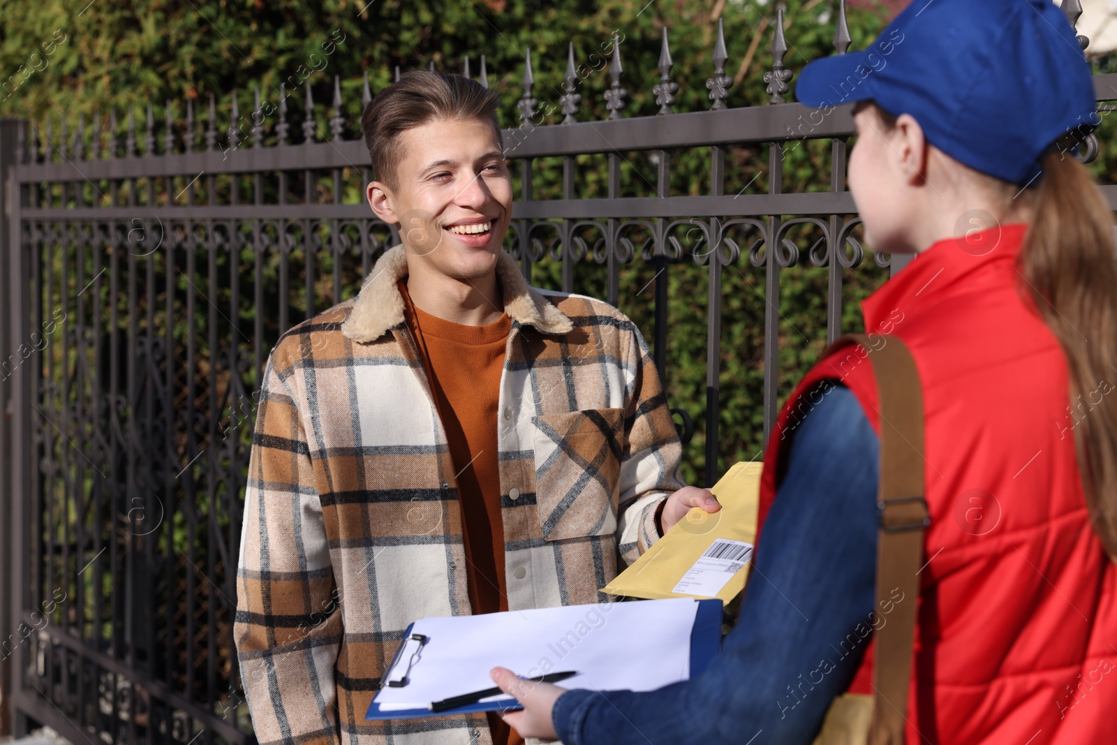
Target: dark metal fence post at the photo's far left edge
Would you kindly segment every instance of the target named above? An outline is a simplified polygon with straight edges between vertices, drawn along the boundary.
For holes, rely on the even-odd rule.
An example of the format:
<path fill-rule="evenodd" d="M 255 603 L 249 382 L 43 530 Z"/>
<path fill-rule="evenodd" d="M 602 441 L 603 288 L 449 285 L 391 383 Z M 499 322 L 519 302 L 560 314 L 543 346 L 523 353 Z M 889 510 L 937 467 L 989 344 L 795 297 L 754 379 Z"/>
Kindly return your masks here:
<path fill-rule="evenodd" d="M 11 184 L 8 179 L 11 166 L 20 162 L 22 155 L 22 135 L 25 122 L 15 118 L 0 118 L 0 288 L 11 286 L 12 255 L 17 247 L 11 242 L 13 235 L 9 198 Z M 4 293 L 7 295 L 7 293 Z M 9 300 L 12 302 L 12 300 Z M 0 311 L 0 316 L 8 316 L 11 308 Z M 10 317 L 10 316 L 9 316 Z M 2 362 L 15 352 L 12 328 L 10 324 L 0 323 L 0 525 L 12 526 L 17 489 L 12 481 L 12 411 L 16 401 L 12 395 L 10 375 Z M 20 603 L 16 601 L 16 577 L 11 571 L 15 564 L 12 553 L 11 528 L 0 529 L 0 643 L 11 638 L 15 630 L 13 619 L 19 613 Z M 0 648 L 2 649 L 2 648 Z M 15 668 L 11 658 L 4 655 L 0 658 L 0 736 L 10 735 L 15 705 L 12 675 Z"/>

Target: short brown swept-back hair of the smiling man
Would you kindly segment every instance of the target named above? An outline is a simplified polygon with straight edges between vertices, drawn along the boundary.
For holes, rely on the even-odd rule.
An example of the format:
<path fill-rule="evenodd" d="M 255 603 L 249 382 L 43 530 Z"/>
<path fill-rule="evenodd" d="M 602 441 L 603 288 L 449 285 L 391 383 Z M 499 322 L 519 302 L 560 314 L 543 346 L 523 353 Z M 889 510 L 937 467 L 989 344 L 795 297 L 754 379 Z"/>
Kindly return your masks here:
<path fill-rule="evenodd" d="M 404 130 L 445 120 L 484 120 L 493 123 L 497 141 L 500 98 L 477 80 L 461 75 L 409 69 L 369 102 L 361 115 L 361 131 L 372 156 L 376 180 L 390 189 L 399 185 L 395 169 L 403 160 L 400 134 Z"/>

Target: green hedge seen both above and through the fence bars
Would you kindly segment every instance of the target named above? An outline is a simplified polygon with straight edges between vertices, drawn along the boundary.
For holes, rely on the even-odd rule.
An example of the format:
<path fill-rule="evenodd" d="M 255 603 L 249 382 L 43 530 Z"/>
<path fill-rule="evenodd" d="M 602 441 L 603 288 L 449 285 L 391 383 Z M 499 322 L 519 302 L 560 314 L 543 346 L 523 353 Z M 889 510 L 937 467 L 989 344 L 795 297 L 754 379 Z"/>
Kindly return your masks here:
<path fill-rule="evenodd" d="M 833 54 L 836 0 L 790 0 L 785 7 L 784 31 L 787 41 L 786 66 L 798 76 L 802 66 Z M 863 3 L 862 3 L 863 4 Z M 373 90 L 388 85 L 395 66 L 426 65 L 433 61 L 439 69 L 460 69 L 465 55 L 471 58 L 471 70 L 478 73 L 479 55 L 486 56 L 490 86 L 502 92 L 502 121 L 506 126 L 518 123 L 516 101 L 522 95 L 524 57 L 529 48 L 534 64 L 538 111 L 544 112 L 538 124 L 557 124 L 562 114 L 562 95 L 567 45 L 573 42 L 577 75 L 577 93 L 582 96 L 580 121 L 602 120 L 608 115 L 604 92 L 609 88 L 609 60 L 613 35 L 620 39 L 623 60 L 622 85 L 629 92 L 623 116 L 650 116 L 658 111 L 652 86 L 659 82 L 657 64 L 663 26 L 670 35 L 674 58 L 671 79 L 679 84 L 676 112 L 695 112 L 710 105 L 706 79 L 713 75 L 712 60 L 717 19 L 725 23 L 728 52 L 727 75 L 736 83 L 729 90 L 728 105 L 756 106 L 768 102 L 764 74 L 772 68 L 768 48 L 775 4 L 765 0 L 576 0 L 547 3 L 540 0 L 325 0 L 319 3 L 276 0 L 95 0 L 82 8 L 60 0 L 37 3 L 0 0 L 4 23 L 0 28 L 0 114 L 25 116 L 42 127 L 42 122 L 65 118 L 74 132 L 79 114 L 92 121 L 95 114 L 105 117 L 108 111 L 118 114 L 128 107 L 154 103 L 155 121 L 162 122 L 161 102 L 171 101 L 181 136 L 184 101 L 198 104 L 210 95 L 217 101 L 216 127 L 220 142 L 230 124 L 231 96 L 238 90 L 241 128 L 247 130 L 252 106 L 250 92 L 259 87 L 264 101 L 276 103 L 280 85 L 294 97 L 288 99 L 292 140 L 298 142 L 303 109 L 299 90 L 307 80 L 317 103 L 315 109 L 318 139 L 328 133 L 327 106 L 333 98 L 333 76 L 341 79 L 346 134 L 360 136 L 356 123 L 361 109 L 361 74 L 367 73 Z M 885 11 L 858 7 L 849 11 L 852 49 L 865 47 L 882 28 Z M 1097 63 L 1108 69 L 1111 59 Z M 22 66 L 22 67 L 21 67 Z M 793 101 L 794 80 L 787 101 Z M 198 132 L 203 127 L 206 106 L 195 106 Z M 139 117 L 142 122 L 143 115 Z M 126 116 L 118 116 L 121 128 Z M 265 144 L 274 142 L 275 121 L 266 122 Z M 103 128 L 107 122 L 103 118 Z M 139 124 L 140 128 L 143 124 Z M 1102 125 L 1113 126 L 1109 120 Z M 531 136 L 528 132 L 527 136 Z M 161 143 L 161 137 L 156 136 Z M 1105 153 L 1117 139 L 1102 136 Z M 782 170 L 784 191 L 825 191 L 830 188 L 831 145 L 829 141 L 789 143 L 782 153 L 771 153 L 767 145 L 728 147 L 725 153 L 725 193 L 765 193 L 772 188 L 773 161 Z M 621 195 L 652 197 L 657 194 L 659 154 L 623 152 L 621 156 Z M 709 149 L 682 149 L 667 153 L 670 159 L 669 192 L 671 194 L 709 193 Z M 605 155 L 582 155 L 576 159 L 575 192 L 581 198 L 601 198 L 607 193 Z M 1094 165 L 1102 174 L 1101 157 Z M 534 199 L 562 197 L 562 159 L 540 159 L 535 162 Z M 518 170 L 514 170 L 518 171 Z M 317 176 L 321 175 L 321 179 Z M 362 178 L 356 170 L 343 175 L 342 200 L 356 203 L 362 199 Z M 293 174 L 293 179 L 300 174 Z M 332 180 L 315 174 L 316 183 L 307 185 L 313 199 L 332 202 Z M 268 178 L 269 179 L 269 178 Z M 266 179 L 266 193 L 274 198 L 275 187 Z M 175 179 L 172 191 L 185 187 L 187 178 Z M 517 176 L 518 181 L 518 176 Z M 212 182 L 219 201 L 230 189 L 241 190 L 241 200 L 250 199 L 247 184 L 221 175 Z M 294 184 L 300 191 L 299 184 Z M 311 188 L 313 185 L 313 189 Z M 137 184 L 142 191 L 143 180 Z M 211 188 L 206 180 L 195 188 L 198 201 L 208 199 Z M 517 194 L 521 185 L 516 183 Z M 83 189 L 92 201 L 92 185 Z M 159 185 L 157 189 L 162 189 Z M 123 200 L 123 193 L 121 195 Z M 181 201 L 181 199 L 179 200 Z M 165 203 L 165 202 L 164 202 Z M 687 216 L 678 216 L 685 219 Z M 733 216 L 726 216 L 732 218 Z M 592 247 L 600 232 L 585 229 L 581 233 Z M 663 273 L 668 284 L 667 375 L 666 386 L 671 405 L 687 410 L 694 418 L 696 433 L 686 448 L 684 475 L 690 483 L 706 480 L 701 470 L 706 439 L 705 410 L 707 402 L 707 288 L 709 269 L 698 266 L 689 252 L 704 251 L 694 238 L 698 231 L 684 225 L 672 233 L 684 249 L 681 260 Z M 636 230 L 628 235 L 639 247 L 650 233 Z M 763 438 L 763 363 L 765 313 L 777 313 L 779 395 L 782 401 L 795 380 L 805 372 L 824 346 L 827 322 L 828 271 L 808 261 L 808 249 L 821 237 L 812 226 L 794 228 L 789 238 L 801 251 L 799 266 L 784 269 L 780 278 L 777 305 L 765 299 L 765 270 L 748 261 L 748 248 L 756 238 L 745 229 L 731 231 L 742 248 L 742 256 L 722 271 L 722 334 L 716 379 L 720 407 L 718 449 L 722 460 L 710 479 L 738 459 L 758 457 Z M 544 237 L 548 238 L 548 237 Z M 240 262 L 242 287 L 252 284 L 250 250 Z M 300 321 L 305 308 L 302 294 L 306 286 L 300 276 L 305 257 L 292 256 L 289 276 L 292 323 Z M 219 262 L 223 276 L 228 268 Z M 325 274 L 331 259 L 323 257 L 316 267 L 322 278 L 315 285 L 315 308 L 321 311 L 332 298 L 332 287 Z M 262 307 L 274 308 L 278 302 L 277 266 L 269 258 L 264 266 L 267 290 Z M 349 271 L 349 270 L 346 270 Z M 198 267 L 204 273 L 204 267 Z M 655 340 L 653 296 L 657 268 L 637 257 L 624 265 L 620 279 L 620 307 L 643 331 L 649 343 Z M 603 267 L 589 259 L 575 271 L 576 292 L 604 297 Z M 871 252 L 860 267 L 843 271 L 842 329 L 860 329 L 857 304 L 887 276 L 872 260 Z M 662 277 L 660 277 L 662 280 Z M 359 276 L 346 274 L 345 297 L 359 287 Z M 541 286 L 560 287 L 561 267 L 546 259 L 533 267 L 533 281 Z M 176 292 L 187 290 L 184 274 L 176 280 Z M 201 281 L 199 281 L 201 284 Z M 228 287 L 228 285 L 225 285 Z M 213 293 L 214 302 L 227 307 L 227 295 Z M 107 299 L 107 298 L 106 298 Z M 251 328 L 257 309 L 242 293 L 244 307 L 238 323 Z M 202 306 L 203 307 L 203 306 Z M 204 338 L 208 319 L 204 311 L 192 323 L 199 338 Z M 265 348 L 278 333 L 269 311 L 264 324 Z M 126 314 L 122 313 L 122 317 Z M 185 335 L 188 321 L 179 318 L 174 335 Z M 248 345 L 246 344 L 246 347 Z M 199 354 L 204 354 L 199 348 Z M 251 385 L 252 374 L 246 378 Z M 227 414 L 229 417 L 229 414 Z"/>

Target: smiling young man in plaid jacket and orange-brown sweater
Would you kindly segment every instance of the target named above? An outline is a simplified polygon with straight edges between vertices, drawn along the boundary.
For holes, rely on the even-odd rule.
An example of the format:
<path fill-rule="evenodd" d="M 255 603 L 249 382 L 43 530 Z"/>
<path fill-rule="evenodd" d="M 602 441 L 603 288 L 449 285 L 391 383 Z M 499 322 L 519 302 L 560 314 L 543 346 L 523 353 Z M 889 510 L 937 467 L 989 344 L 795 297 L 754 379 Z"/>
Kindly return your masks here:
<path fill-rule="evenodd" d="M 376 96 L 367 200 L 402 242 L 268 361 L 236 630 L 264 745 L 521 742 L 495 716 L 365 722 L 408 624 L 605 601 L 619 563 L 718 508 L 679 480 L 632 322 L 502 250 L 497 104 L 428 70 Z"/>

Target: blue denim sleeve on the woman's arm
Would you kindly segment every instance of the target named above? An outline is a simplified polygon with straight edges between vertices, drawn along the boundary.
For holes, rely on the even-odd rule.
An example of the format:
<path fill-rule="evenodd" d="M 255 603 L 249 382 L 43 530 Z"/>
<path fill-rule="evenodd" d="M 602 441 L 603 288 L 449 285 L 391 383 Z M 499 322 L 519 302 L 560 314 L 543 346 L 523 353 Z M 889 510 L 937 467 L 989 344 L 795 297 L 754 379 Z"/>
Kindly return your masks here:
<path fill-rule="evenodd" d="M 791 436 L 722 652 L 700 676 L 659 690 L 563 694 L 552 720 L 564 745 L 812 742 L 871 631 L 878 440 L 841 385 Z"/>

